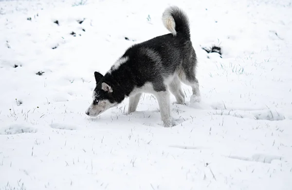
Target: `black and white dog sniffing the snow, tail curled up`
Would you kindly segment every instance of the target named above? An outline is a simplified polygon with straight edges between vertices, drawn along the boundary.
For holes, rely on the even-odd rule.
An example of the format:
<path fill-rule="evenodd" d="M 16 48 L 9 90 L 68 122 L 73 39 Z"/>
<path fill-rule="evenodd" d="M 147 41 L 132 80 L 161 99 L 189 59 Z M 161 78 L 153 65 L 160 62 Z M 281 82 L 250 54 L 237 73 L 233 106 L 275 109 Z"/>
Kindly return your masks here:
<path fill-rule="evenodd" d="M 129 97 L 128 113 L 131 113 L 136 111 L 141 94 L 151 93 L 157 98 L 164 127 L 175 126 L 168 90 L 178 104 L 184 104 L 181 82 L 192 87 L 190 102 L 200 102 L 197 58 L 188 17 L 180 8 L 171 6 L 164 11 L 162 20 L 171 33 L 129 47 L 105 76 L 94 72 L 96 87 L 87 115 L 97 116 L 125 97 Z"/>

